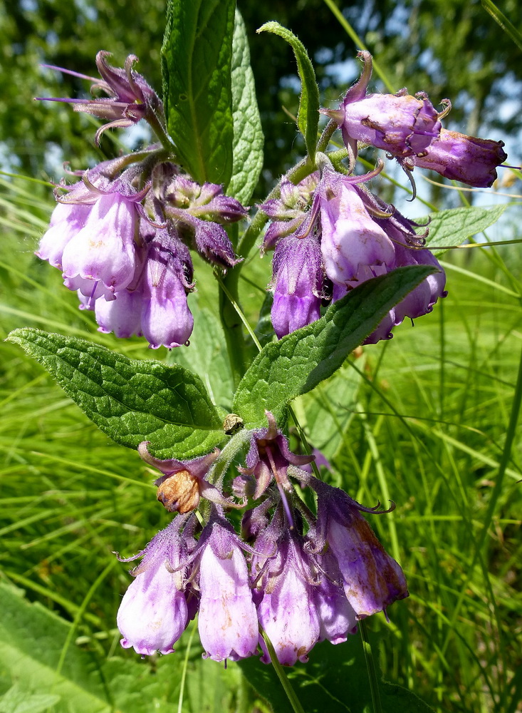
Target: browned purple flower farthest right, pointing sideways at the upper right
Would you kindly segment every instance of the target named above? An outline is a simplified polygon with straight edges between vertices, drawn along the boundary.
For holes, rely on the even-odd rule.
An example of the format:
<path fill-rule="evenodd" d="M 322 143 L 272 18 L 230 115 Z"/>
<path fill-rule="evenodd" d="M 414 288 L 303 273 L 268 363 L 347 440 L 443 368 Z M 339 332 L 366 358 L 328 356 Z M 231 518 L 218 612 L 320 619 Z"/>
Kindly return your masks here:
<path fill-rule="evenodd" d="M 508 155 L 503 141 L 466 136 L 442 129 L 427 151 L 404 162 L 406 168 L 427 168 L 450 180 L 476 188 L 489 188 L 496 180 L 496 168 Z"/>

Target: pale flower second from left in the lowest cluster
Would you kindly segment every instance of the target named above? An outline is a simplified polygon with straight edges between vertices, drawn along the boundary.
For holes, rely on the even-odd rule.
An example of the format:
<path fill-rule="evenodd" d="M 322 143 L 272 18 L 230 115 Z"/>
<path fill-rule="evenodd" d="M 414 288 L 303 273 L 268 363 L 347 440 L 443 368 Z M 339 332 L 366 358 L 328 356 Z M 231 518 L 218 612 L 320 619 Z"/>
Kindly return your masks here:
<path fill-rule="evenodd" d="M 199 637 L 214 661 L 237 661 L 258 645 L 256 607 L 242 550 L 245 545 L 214 509 L 199 538 Z"/>

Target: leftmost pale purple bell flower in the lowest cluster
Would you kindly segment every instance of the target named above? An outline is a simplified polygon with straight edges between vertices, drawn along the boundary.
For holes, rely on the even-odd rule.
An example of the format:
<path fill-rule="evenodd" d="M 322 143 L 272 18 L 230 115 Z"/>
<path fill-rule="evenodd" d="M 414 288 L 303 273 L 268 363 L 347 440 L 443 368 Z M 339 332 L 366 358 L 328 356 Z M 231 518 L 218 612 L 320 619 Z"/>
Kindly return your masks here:
<path fill-rule="evenodd" d="M 186 518 L 172 520 L 134 557 L 142 561 L 132 570 L 135 580 L 118 610 L 121 645 L 135 652 L 169 654 L 189 622 L 186 580 L 189 540 L 180 533 Z"/>

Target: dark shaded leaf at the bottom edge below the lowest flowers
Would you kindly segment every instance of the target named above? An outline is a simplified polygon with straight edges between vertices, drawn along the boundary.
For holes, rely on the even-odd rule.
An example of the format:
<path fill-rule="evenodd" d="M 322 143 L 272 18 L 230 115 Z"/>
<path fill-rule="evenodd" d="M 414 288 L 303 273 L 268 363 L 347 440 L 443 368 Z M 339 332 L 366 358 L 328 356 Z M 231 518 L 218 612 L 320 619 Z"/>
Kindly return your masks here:
<path fill-rule="evenodd" d="M 372 640 L 376 650 L 376 637 Z M 272 666 L 254 657 L 239 662 L 239 666 L 274 713 L 293 713 Z M 335 646 L 322 642 L 310 652 L 308 663 L 298 663 L 286 672 L 306 713 L 375 710 L 360 636 L 350 636 L 347 642 Z M 379 680 L 377 687 L 382 713 L 433 713 L 424 701 L 402 686 Z"/>

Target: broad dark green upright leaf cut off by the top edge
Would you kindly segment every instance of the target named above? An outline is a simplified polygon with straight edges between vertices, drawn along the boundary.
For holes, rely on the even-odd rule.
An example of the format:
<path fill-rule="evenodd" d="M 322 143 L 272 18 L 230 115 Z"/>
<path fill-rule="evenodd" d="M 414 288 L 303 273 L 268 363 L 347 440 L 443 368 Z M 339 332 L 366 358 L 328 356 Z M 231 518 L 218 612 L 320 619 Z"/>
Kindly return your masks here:
<path fill-rule="evenodd" d="M 167 129 L 199 183 L 229 184 L 234 0 L 169 0 L 162 46 Z"/>

